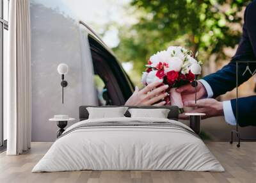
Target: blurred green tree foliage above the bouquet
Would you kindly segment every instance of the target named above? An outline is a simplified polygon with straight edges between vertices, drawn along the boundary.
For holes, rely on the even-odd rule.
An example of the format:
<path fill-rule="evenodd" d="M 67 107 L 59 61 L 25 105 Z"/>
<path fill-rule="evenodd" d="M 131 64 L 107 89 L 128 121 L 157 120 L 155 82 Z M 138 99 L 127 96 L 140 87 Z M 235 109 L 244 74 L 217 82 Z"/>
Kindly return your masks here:
<path fill-rule="evenodd" d="M 243 0 L 132 0 L 138 22 L 122 26 L 120 44 L 114 52 L 122 61 L 132 61 L 142 72 L 148 58 L 169 45 L 199 51 L 199 59 L 211 54 L 225 58 L 224 47 L 234 47 L 241 37 Z"/>

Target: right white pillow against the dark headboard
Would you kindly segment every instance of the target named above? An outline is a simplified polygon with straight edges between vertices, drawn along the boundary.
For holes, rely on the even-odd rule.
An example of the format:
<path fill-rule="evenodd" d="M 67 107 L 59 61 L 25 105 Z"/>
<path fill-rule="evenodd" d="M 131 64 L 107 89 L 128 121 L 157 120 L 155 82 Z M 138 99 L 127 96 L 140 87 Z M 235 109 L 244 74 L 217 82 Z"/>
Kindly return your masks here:
<path fill-rule="evenodd" d="M 129 109 L 131 118 L 167 118 L 170 109 Z"/>

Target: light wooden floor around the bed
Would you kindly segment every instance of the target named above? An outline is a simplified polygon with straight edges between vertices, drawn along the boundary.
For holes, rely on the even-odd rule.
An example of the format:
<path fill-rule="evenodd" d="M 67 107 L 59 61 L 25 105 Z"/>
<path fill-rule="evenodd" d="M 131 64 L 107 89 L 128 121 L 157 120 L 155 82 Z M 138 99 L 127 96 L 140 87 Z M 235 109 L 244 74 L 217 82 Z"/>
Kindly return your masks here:
<path fill-rule="evenodd" d="M 52 143 L 32 143 L 29 152 L 19 156 L 0 154 L 0 182 L 256 182 L 256 142 L 243 142 L 241 148 L 227 142 L 206 142 L 225 172 L 194 171 L 65 171 L 31 173 L 31 169 Z"/>

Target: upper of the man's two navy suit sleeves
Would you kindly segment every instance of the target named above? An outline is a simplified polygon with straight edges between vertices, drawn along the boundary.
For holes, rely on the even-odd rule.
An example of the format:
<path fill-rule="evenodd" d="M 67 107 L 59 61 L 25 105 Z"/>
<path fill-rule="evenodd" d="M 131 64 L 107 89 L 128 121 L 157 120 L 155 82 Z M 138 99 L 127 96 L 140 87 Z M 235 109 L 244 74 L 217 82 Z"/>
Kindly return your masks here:
<path fill-rule="evenodd" d="M 237 49 L 236 55 L 225 67 L 214 74 L 205 76 L 203 79 L 211 86 L 213 96 L 218 97 L 236 88 L 236 60 L 249 61 L 256 58 L 256 1 L 253 1 L 244 12 L 243 37 Z M 238 84 L 247 81 L 252 75 L 249 72 L 243 76 L 246 64 L 239 65 Z M 256 69 L 255 64 L 250 65 L 252 72 Z"/>

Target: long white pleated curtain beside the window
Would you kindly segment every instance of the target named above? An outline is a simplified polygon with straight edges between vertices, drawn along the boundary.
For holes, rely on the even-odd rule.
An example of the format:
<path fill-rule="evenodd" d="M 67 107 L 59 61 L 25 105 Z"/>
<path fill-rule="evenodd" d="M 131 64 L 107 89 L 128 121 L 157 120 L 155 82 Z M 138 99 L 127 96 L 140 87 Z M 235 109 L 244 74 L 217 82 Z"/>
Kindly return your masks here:
<path fill-rule="evenodd" d="M 8 155 L 21 154 L 31 144 L 31 42 L 29 0 L 11 0 L 9 46 L 4 71 L 4 107 Z"/>

